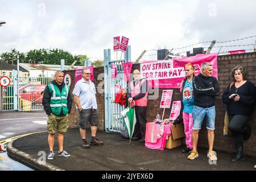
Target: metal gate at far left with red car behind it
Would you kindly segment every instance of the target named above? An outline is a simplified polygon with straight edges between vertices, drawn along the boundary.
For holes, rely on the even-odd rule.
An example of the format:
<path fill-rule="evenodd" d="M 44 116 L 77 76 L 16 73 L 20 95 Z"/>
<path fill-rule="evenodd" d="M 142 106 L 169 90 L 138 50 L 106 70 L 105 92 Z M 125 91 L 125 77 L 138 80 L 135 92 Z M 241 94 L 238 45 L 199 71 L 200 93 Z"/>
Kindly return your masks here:
<path fill-rule="evenodd" d="M 7 87 L 1 86 L 0 111 L 43 109 L 43 91 L 53 78 L 18 77 L 18 72 L 15 70 L 13 70 L 13 76 L 9 78 L 11 84 Z"/>

